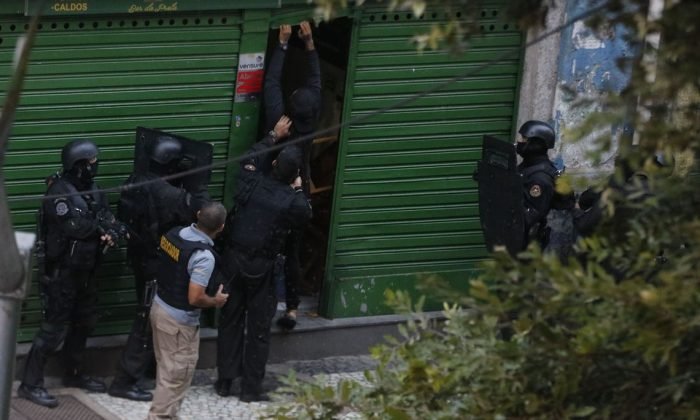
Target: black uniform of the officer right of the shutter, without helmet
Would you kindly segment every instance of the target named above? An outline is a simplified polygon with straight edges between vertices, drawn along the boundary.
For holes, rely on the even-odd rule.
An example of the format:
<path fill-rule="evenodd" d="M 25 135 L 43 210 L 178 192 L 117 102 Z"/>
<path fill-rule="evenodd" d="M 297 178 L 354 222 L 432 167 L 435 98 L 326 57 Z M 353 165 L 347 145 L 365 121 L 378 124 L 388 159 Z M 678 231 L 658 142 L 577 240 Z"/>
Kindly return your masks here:
<path fill-rule="evenodd" d="M 557 169 L 546 154 L 526 156 L 518 165 L 518 172 L 523 178 L 525 206 L 525 244 L 531 240 L 547 245 L 547 213 L 554 196 L 554 182 Z"/>

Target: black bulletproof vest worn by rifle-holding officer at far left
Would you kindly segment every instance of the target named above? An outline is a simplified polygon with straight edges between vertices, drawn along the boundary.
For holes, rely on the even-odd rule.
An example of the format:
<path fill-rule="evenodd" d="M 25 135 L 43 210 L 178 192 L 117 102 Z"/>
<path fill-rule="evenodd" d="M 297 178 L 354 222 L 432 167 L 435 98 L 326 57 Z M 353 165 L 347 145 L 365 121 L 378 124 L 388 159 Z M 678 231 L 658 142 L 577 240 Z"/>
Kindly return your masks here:
<path fill-rule="evenodd" d="M 89 190 L 94 189 L 96 189 L 95 184 L 92 184 L 89 187 Z M 66 198 L 68 201 L 70 201 L 71 206 L 78 212 L 79 217 L 91 220 L 95 219 L 96 209 L 94 207 L 98 203 L 96 201 L 89 203 L 83 195 L 79 194 L 78 189 L 67 180 L 62 178 L 56 179 L 46 191 L 46 194 L 59 196 L 64 194 L 72 194 L 68 195 Z M 45 215 L 54 214 L 54 201 L 46 200 L 43 203 L 43 206 Z M 57 260 L 66 255 L 66 251 L 69 248 L 69 238 L 67 238 L 65 234 L 61 232 L 60 227 L 55 223 L 55 220 L 52 217 L 45 216 L 44 223 L 46 224 L 44 227 L 46 232 L 46 257 L 49 260 Z M 75 241 L 82 243 L 94 243 L 95 246 L 97 246 L 99 239 L 89 238 Z M 85 257 L 89 258 L 88 255 Z"/>

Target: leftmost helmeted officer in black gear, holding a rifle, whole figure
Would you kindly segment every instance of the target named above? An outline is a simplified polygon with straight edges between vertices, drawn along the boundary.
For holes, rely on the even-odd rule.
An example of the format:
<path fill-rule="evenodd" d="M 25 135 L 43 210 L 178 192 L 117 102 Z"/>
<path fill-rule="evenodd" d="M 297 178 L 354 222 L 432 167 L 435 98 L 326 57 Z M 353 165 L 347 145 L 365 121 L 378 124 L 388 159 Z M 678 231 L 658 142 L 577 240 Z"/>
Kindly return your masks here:
<path fill-rule="evenodd" d="M 44 366 L 61 344 L 64 385 L 92 392 L 106 390 L 104 383 L 82 372 L 82 355 L 98 318 L 95 269 L 106 247 L 126 234 L 110 212 L 105 194 L 96 191 L 97 154 L 97 146 L 89 140 L 65 145 L 63 171 L 49 178 L 40 210 L 40 231 L 46 243 L 39 282 L 43 320 L 17 394 L 51 408 L 58 400 L 44 388 Z"/>

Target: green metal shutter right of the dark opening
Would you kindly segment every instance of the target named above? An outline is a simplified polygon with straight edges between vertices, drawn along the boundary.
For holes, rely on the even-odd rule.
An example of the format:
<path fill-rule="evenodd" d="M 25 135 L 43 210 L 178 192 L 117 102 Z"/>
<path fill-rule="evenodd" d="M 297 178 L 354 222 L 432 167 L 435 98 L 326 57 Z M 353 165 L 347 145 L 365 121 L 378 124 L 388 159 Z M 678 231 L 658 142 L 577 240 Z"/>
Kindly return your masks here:
<path fill-rule="evenodd" d="M 444 12 L 428 9 L 416 18 L 365 10 L 356 22 L 344 121 L 517 51 L 522 34 L 501 20 L 503 14 L 498 5 L 484 8 L 485 35 L 451 57 L 417 53 L 409 42 Z M 385 289 L 413 291 L 421 276 L 466 286 L 486 256 L 472 172 L 482 136 L 509 138 L 513 131 L 520 55 L 343 130 L 324 314 L 386 313 Z"/>

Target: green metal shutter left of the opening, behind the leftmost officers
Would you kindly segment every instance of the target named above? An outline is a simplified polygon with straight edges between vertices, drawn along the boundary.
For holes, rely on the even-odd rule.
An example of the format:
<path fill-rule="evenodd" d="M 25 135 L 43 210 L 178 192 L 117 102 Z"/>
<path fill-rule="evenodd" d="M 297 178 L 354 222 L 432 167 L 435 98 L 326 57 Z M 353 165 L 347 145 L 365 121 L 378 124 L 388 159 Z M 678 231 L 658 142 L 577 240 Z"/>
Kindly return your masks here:
<path fill-rule="evenodd" d="M 6 89 L 24 21 L 0 21 L 0 80 Z M 97 181 L 121 185 L 132 171 L 139 125 L 214 145 L 227 158 L 241 18 L 238 14 L 45 19 L 10 140 L 5 179 L 10 200 L 42 194 L 60 168 L 61 147 L 74 138 L 100 147 Z M 223 195 L 224 170 L 210 193 Z M 112 204 L 117 194 L 110 194 Z M 11 201 L 17 229 L 34 230 L 39 200 Z M 133 279 L 123 250 L 101 268 L 97 334 L 125 332 L 134 315 Z M 41 319 L 36 281 L 24 303 L 19 341 Z"/>

